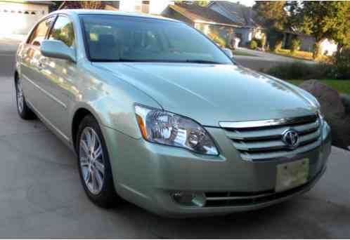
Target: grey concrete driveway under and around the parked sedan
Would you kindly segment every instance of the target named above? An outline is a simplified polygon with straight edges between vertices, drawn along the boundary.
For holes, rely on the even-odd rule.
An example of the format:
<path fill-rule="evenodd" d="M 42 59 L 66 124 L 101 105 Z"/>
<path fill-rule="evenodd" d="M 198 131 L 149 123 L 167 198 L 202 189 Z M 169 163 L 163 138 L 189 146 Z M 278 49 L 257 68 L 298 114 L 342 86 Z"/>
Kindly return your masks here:
<path fill-rule="evenodd" d="M 13 55 L 0 52 L 0 238 L 350 237 L 350 154 L 337 148 L 311 192 L 259 211 L 169 219 L 127 203 L 94 206 L 74 154 L 40 121 L 18 117 L 12 76 L 4 76 L 11 61 Z"/>

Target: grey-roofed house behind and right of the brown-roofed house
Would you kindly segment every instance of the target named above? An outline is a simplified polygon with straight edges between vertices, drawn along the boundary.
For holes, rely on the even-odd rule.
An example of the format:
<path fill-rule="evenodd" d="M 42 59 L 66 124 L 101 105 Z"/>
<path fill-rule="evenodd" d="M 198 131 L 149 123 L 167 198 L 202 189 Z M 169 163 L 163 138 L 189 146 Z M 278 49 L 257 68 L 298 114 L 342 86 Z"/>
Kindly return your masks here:
<path fill-rule="evenodd" d="M 265 34 L 257 12 L 251 7 L 231 1 L 212 1 L 207 7 L 240 25 L 235 28 L 235 36 L 240 38 L 243 46 L 252 39 L 261 39 Z"/>

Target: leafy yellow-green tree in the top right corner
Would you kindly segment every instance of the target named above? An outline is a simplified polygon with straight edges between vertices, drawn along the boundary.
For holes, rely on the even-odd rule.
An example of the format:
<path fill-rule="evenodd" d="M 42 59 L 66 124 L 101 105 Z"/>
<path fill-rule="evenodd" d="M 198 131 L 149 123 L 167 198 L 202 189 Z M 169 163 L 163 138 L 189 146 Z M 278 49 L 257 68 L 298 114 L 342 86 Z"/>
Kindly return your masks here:
<path fill-rule="evenodd" d="M 299 29 L 315 37 L 313 58 L 320 55 L 320 44 L 333 39 L 339 46 L 350 44 L 349 1 L 303 1 L 297 7 L 294 19 L 299 19 Z"/>

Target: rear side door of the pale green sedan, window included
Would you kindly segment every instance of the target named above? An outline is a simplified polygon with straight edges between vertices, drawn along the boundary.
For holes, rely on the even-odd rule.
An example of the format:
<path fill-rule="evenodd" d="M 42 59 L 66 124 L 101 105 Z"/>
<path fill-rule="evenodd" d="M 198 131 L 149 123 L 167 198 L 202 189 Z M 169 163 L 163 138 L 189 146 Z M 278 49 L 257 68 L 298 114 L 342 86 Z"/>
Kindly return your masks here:
<path fill-rule="evenodd" d="M 51 16 L 39 22 L 32 30 L 22 51 L 20 51 L 20 79 L 22 80 L 25 98 L 39 112 L 38 103 L 43 95 L 42 89 L 39 88 L 39 81 L 42 78 L 39 64 L 41 58 L 40 46 L 41 42 L 46 38 L 54 18 L 54 16 Z"/>

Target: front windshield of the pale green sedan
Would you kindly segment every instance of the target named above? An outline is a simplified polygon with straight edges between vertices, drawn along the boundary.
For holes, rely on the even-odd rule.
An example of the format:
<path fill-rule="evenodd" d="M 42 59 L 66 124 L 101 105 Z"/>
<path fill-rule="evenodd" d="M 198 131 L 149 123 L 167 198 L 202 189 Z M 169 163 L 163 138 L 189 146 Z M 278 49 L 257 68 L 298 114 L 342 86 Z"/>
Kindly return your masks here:
<path fill-rule="evenodd" d="M 182 22 L 80 15 L 91 61 L 233 64 L 212 41 Z"/>

